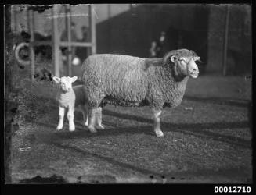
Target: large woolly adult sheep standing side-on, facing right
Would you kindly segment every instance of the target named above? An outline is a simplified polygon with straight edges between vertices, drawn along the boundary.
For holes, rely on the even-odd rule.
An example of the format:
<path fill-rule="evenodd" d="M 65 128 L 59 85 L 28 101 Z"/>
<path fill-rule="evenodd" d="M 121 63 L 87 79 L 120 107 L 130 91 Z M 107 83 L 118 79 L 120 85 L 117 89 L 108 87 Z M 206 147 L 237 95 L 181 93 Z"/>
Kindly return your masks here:
<path fill-rule="evenodd" d="M 96 132 L 97 109 L 106 104 L 150 106 L 153 130 L 163 137 L 160 114 L 165 107 L 175 108 L 182 102 L 189 77 L 197 78 L 192 50 L 168 51 L 163 58 L 139 58 L 130 55 L 91 55 L 82 64 L 82 80 L 88 91 L 88 129 Z"/>

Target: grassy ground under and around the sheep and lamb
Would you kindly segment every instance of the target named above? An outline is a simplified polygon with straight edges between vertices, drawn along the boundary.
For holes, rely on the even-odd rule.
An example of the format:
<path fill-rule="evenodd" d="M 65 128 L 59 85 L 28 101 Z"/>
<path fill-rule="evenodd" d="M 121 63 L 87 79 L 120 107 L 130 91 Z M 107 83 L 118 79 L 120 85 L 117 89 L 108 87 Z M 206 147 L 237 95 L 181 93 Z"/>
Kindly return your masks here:
<path fill-rule="evenodd" d="M 190 79 L 182 104 L 161 115 L 150 108 L 103 108 L 104 130 L 56 131 L 56 88 L 24 84 L 13 122 L 9 183 L 252 183 L 251 80 Z"/>

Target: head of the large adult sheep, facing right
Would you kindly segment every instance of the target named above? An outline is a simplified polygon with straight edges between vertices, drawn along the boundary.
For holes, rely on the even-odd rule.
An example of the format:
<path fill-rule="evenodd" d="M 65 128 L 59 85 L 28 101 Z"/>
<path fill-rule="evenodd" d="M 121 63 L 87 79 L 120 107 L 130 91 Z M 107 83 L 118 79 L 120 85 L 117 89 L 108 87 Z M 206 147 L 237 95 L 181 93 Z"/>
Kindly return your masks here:
<path fill-rule="evenodd" d="M 200 57 L 192 50 L 178 49 L 169 51 L 164 55 L 164 66 L 171 67 L 171 74 L 176 77 L 190 76 L 197 78 L 199 69 L 196 61 L 200 62 Z"/>

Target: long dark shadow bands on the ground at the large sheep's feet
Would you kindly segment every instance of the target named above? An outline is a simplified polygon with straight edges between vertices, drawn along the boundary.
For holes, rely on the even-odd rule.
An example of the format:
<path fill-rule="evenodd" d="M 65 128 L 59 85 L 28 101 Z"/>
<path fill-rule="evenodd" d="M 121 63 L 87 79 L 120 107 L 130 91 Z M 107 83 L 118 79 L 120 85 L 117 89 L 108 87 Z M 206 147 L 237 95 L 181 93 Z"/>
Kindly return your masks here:
<path fill-rule="evenodd" d="M 103 110 L 103 115 L 111 115 L 114 117 L 119 117 L 121 119 L 130 119 L 135 120 L 138 122 L 147 122 L 153 124 L 152 119 L 146 119 L 140 116 L 135 115 L 127 115 L 127 114 L 121 114 L 117 112 L 112 112 L 110 110 Z M 45 122 L 37 122 L 38 125 L 42 126 L 49 126 L 54 129 L 56 129 L 55 124 L 49 124 Z M 139 126 L 137 128 L 135 127 L 129 127 L 129 126 L 116 126 L 116 124 L 111 122 L 106 122 L 103 120 L 103 124 L 107 126 L 104 130 L 98 130 L 98 133 L 90 133 L 88 132 L 88 129 L 84 126 L 77 126 L 77 131 L 75 132 L 63 132 L 59 131 L 56 132 L 57 137 L 61 137 L 62 139 L 74 139 L 78 137 L 95 137 L 95 136 L 115 136 L 119 134 L 124 133 L 144 133 L 149 134 L 152 136 L 155 136 L 153 133 L 153 127 L 152 126 Z M 232 144 L 239 147 L 251 147 L 251 140 L 243 140 L 240 137 L 232 137 L 228 135 L 223 135 L 219 133 L 212 133 L 209 131 L 205 131 L 204 129 L 233 129 L 233 128 L 247 128 L 249 127 L 248 121 L 242 121 L 242 122 L 207 122 L 207 123 L 168 123 L 168 122 L 161 122 L 160 125 L 162 126 L 162 129 L 164 133 L 167 132 L 179 132 L 184 133 L 187 135 L 193 135 L 197 137 L 202 138 L 208 138 L 212 140 L 218 140 L 222 141 L 228 144 Z"/>

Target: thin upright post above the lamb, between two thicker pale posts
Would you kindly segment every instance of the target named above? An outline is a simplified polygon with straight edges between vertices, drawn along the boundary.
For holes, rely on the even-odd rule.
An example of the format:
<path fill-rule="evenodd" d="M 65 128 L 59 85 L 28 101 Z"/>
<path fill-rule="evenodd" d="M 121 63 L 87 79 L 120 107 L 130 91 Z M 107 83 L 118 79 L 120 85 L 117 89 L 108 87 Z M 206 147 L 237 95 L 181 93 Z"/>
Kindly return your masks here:
<path fill-rule="evenodd" d="M 72 76 L 72 48 L 71 48 L 71 20 L 70 20 L 70 5 L 66 6 L 66 16 L 67 16 L 67 67 L 68 67 L 68 76 Z"/>

